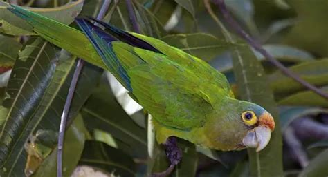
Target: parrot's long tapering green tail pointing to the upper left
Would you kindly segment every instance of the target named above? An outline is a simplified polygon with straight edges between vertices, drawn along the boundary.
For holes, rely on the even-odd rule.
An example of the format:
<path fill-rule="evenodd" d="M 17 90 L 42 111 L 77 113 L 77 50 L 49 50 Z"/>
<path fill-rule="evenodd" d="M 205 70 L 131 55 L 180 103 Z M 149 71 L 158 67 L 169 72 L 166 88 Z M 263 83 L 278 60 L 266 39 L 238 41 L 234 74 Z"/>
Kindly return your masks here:
<path fill-rule="evenodd" d="M 60 48 L 64 48 L 93 65 L 97 65 L 104 69 L 107 68 L 95 51 L 95 48 L 93 48 L 93 45 L 91 45 L 81 31 L 35 12 L 25 10 L 19 6 L 12 5 L 12 7 L 8 7 L 8 10 L 30 23 L 30 25 L 33 26 L 33 30 L 39 34 L 39 36 L 46 39 L 46 41 Z"/>

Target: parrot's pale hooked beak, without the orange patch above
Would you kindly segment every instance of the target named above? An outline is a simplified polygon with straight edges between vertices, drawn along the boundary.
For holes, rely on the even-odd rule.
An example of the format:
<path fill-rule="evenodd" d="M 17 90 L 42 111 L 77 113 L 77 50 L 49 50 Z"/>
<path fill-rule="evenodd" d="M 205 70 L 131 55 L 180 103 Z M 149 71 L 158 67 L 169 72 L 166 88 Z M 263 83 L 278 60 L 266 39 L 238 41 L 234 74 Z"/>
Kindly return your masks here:
<path fill-rule="evenodd" d="M 243 138 L 243 145 L 256 148 L 256 152 L 261 151 L 268 145 L 271 138 L 271 129 L 264 126 L 255 127 Z"/>

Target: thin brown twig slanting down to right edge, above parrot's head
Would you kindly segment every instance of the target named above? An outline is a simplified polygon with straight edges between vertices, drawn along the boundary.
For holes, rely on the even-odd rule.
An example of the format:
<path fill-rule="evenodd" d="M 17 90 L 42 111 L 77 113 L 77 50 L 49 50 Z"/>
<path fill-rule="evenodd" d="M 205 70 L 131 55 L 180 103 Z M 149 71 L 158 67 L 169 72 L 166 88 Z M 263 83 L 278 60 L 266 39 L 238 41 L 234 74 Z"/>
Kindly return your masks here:
<path fill-rule="evenodd" d="M 304 79 L 301 79 L 298 74 L 295 74 L 291 72 L 287 67 L 282 65 L 279 61 L 277 61 L 271 54 L 269 54 L 264 48 L 262 48 L 262 45 L 259 44 L 257 41 L 255 41 L 250 35 L 248 35 L 242 27 L 231 17 L 230 13 L 228 12 L 226 8 L 226 4 L 224 3 L 224 0 L 212 0 L 217 6 L 219 7 L 221 14 L 224 16 L 224 19 L 230 24 L 230 27 L 233 28 L 237 34 L 239 34 L 249 45 L 251 45 L 257 52 L 261 53 L 268 61 L 273 63 L 279 70 L 282 71 L 286 76 L 291 77 L 298 83 L 302 84 L 304 87 L 307 87 L 309 90 L 312 90 L 316 94 L 327 98 L 328 94 L 325 92 L 322 92 L 322 90 L 318 89 L 318 87 L 311 85 L 311 83 L 308 83 L 307 81 L 304 81 Z"/>

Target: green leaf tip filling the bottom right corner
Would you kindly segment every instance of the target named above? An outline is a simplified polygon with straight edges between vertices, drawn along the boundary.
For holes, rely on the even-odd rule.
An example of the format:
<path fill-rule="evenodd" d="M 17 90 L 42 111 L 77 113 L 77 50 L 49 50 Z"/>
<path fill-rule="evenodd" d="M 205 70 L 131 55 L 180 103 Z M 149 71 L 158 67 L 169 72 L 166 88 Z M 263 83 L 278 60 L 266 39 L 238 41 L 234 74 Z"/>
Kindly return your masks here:
<path fill-rule="evenodd" d="M 300 177 L 317 177 L 328 175 L 328 149 L 313 158 L 300 173 Z"/>

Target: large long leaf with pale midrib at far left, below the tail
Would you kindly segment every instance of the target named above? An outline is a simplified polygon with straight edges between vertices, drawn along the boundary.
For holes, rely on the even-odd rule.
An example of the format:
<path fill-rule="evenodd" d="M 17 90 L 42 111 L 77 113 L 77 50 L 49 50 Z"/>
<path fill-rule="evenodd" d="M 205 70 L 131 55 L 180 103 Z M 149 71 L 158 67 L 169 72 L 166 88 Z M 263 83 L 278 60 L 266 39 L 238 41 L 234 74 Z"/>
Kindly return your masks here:
<path fill-rule="evenodd" d="M 6 120 L 1 126 L 1 176 L 23 176 L 19 173 L 23 170 L 15 171 L 17 161 L 10 159 L 10 156 L 18 157 L 17 154 L 24 150 L 25 141 L 19 142 L 19 139 L 29 135 L 24 134 L 24 124 L 36 112 L 58 61 L 50 43 L 39 38 L 31 41 L 19 54 L 6 88 L 10 98 L 3 101 L 3 106 L 9 111 L 1 118 Z M 24 163 L 20 165 L 24 166 Z"/>

